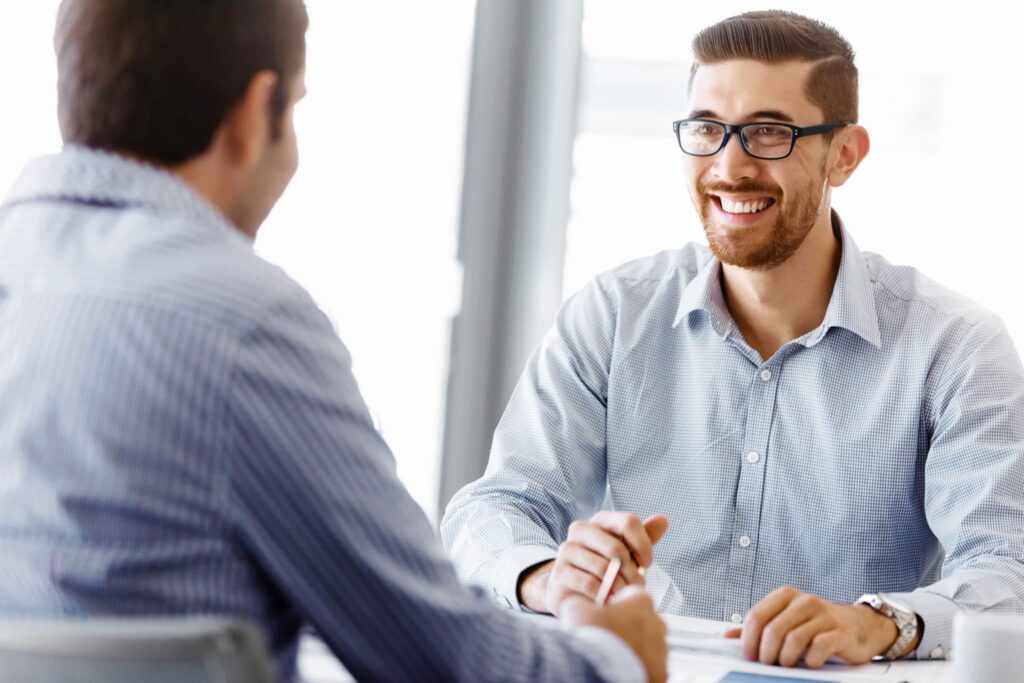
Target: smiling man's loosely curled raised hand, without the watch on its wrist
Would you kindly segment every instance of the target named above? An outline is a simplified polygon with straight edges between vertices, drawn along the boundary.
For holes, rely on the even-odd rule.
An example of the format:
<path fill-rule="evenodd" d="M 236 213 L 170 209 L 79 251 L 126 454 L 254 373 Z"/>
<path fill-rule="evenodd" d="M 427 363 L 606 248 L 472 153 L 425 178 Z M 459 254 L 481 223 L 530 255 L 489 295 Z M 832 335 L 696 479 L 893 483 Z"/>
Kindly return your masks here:
<path fill-rule="evenodd" d="M 640 567 L 654 561 L 654 544 L 669 528 L 669 519 L 654 515 L 641 523 L 636 515 L 601 511 L 590 521 L 569 525 L 558 556 L 523 571 L 519 600 L 535 611 L 560 614 L 563 601 L 583 597 L 593 602 L 611 558 L 623 563 L 611 595 L 626 586 L 643 586 Z"/>

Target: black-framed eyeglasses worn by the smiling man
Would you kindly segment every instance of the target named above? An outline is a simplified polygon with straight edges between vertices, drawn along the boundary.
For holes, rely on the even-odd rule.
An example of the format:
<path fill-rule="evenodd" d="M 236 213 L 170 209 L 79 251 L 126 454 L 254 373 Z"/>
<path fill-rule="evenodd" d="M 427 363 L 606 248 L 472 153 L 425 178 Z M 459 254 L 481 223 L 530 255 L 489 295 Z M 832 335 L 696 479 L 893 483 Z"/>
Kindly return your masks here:
<path fill-rule="evenodd" d="M 682 119 L 672 123 L 679 148 L 692 157 L 712 157 L 724 147 L 733 133 L 739 135 L 743 150 L 755 159 L 785 159 L 793 154 L 797 139 L 821 135 L 851 125 L 849 121 L 828 121 L 817 126 L 791 126 L 787 123 L 757 121 L 733 126 L 711 119 Z"/>

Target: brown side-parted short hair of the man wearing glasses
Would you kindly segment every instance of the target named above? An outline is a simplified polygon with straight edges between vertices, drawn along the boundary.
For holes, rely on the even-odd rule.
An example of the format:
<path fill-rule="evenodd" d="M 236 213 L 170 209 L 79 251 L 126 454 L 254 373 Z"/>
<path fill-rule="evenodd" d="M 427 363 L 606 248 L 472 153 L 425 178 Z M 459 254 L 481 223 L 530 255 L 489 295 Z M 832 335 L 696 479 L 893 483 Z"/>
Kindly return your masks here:
<path fill-rule="evenodd" d="M 767 10 L 730 16 L 693 39 L 690 85 L 700 65 L 729 59 L 764 63 L 811 61 L 807 98 L 828 121 L 857 121 L 857 67 L 850 43 L 836 29 L 795 12 Z"/>

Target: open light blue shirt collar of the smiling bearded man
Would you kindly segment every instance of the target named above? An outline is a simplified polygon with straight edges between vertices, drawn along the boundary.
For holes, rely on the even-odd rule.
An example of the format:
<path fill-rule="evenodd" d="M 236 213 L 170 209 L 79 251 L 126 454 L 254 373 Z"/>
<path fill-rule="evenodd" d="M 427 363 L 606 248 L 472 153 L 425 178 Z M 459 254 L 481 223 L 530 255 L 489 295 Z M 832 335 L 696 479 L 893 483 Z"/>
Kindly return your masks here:
<path fill-rule="evenodd" d="M 833 231 L 839 239 L 842 249 L 839 273 L 836 276 L 836 286 L 833 288 L 824 319 L 807 336 L 805 343 L 807 346 L 813 346 L 829 329 L 843 328 L 881 348 L 882 335 L 874 308 L 874 293 L 864 256 L 835 211 L 831 213 L 831 222 Z M 705 310 L 709 313 L 712 327 L 720 337 L 724 337 L 735 327 L 732 315 L 725 305 L 721 272 L 721 262 L 711 256 L 697 271 L 696 276 L 683 289 L 672 327 L 678 326 L 695 310 Z"/>

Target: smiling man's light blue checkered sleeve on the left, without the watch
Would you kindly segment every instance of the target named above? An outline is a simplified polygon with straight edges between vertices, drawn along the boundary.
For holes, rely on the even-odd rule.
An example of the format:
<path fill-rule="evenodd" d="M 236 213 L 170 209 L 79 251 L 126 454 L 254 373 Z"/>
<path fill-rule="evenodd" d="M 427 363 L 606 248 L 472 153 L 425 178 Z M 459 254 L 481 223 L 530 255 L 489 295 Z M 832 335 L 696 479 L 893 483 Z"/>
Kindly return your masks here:
<path fill-rule="evenodd" d="M 569 524 L 600 509 L 614 301 L 597 280 L 567 301 L 495 431 L 487 470 L 460 490 L 441 538 L 464 581 L 521 607 L 519 574 L 554 558 Z"/>

